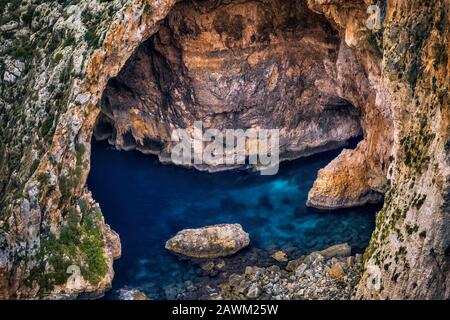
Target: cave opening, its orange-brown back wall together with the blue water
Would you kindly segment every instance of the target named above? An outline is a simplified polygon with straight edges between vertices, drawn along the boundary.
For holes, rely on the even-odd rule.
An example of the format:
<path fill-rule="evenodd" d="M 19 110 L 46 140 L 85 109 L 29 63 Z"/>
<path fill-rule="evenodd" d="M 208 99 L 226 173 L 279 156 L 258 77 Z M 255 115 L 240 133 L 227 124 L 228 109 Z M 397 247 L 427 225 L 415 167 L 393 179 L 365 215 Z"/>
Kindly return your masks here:
<path fill-rule="evenodd" d="M 94 132 L 88 187 L 123 248 L 110 295 L 138 288 L 152 299 L 210 298 L 247 265 L 282 266 L 277 250 L 295 259 L 347 242 L 362 252 L 378 207 L 305 207 L 317 171 L 362 135 L 358 107 L 335 79 L 340 46 L 304 1 L 174 6 L 109 80 Z M 280 129 L 281 159 L 301 159 L 267 177 L 162 165 L 172 130 L 198 120 L 219 130 Z M 218 223 L 240 223 L 251 246 L 213 261 L 180 261 L 164 249 L 181 229 Z"/>

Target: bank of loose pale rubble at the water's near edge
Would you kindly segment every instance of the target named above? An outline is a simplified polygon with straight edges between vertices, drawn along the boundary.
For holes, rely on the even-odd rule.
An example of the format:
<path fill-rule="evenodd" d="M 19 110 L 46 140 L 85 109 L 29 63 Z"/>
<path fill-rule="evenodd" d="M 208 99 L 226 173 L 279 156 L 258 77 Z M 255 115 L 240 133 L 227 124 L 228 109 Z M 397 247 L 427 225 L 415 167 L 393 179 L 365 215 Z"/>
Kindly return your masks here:
<path fill-rule="evenodd" d="M 217 299 L 350 300 L 360 278 L 362 255 L 324 257 L 313 252 L 285 268 L 247 267 L 222 285 Z"/>

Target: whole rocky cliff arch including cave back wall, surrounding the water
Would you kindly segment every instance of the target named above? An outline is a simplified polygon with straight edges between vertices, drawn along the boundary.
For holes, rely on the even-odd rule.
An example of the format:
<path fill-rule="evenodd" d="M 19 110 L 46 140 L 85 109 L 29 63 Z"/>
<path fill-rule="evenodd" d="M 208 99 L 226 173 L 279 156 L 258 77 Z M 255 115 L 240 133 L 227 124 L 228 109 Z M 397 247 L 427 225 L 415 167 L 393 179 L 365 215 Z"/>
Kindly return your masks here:
<path fill-rule="evenodd" d="M 285 158 L 362 132 L 308 200 L 386 194 L 355 297 L 449 298 L 448 1 L 379 1 L 380 31 L 371 1 L 175 2 L 0 3 L 0 298 L 104 292 L 120 242 L 85 186 L 94 130 L 164 156 L 194 119 L 279 126 Z"/>

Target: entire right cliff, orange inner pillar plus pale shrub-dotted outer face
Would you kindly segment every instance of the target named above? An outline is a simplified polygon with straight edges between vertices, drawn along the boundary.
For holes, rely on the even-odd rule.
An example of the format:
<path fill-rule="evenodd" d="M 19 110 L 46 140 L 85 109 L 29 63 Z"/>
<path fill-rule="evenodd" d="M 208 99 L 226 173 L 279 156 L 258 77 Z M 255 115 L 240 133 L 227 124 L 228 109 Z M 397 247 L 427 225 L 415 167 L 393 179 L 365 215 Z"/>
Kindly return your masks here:
<path fill-rule="evenodd" d="M 378 3 L 384 28 L 373 33 L 364 26 L 370 1 L 308 1 L 341 30 L 374 90 L 364 112 L 365 140 L 319 173 L 309 202 L 359 202 L 359 191 L 380 189 L 377 172 L 389 165 L 385 205 L 356 298 L 448 299 L 450 4 Z M 373 278 L 381 280 L 380 290 L 369 284 Z"/>

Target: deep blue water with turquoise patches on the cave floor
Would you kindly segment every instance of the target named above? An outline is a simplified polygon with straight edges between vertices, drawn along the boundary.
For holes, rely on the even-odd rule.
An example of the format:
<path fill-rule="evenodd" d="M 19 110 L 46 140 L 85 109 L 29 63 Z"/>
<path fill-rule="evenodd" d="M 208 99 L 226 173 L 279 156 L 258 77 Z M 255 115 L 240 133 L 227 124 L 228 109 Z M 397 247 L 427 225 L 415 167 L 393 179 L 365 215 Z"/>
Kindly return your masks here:
<path fill-rule="evenodd" d="M 378 206 L 324 213 L 304 205 L 317 171 L 338 154 L 282 163 L 275 176 L 209 174 L 94 141 L 89 189 L 122 242 L 107 298 L 115 298 L 115 290 L 124 287 L 143 290 L 152 299 L 205 297 L 246 265 L 277 264 L 270 257 L 276 250 L 295 259 L 347 242 L 361 252 Z M 214 277 L 201 270 L 204 261 L 181 260 L 164 249 L 165 241 L 181 229 L 218 223 L 240 223 L 251 246 L 224 259 L 226 267 Z"/>

